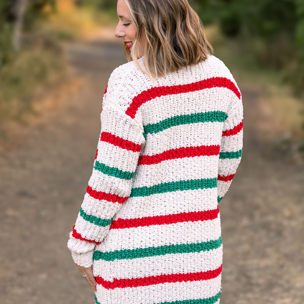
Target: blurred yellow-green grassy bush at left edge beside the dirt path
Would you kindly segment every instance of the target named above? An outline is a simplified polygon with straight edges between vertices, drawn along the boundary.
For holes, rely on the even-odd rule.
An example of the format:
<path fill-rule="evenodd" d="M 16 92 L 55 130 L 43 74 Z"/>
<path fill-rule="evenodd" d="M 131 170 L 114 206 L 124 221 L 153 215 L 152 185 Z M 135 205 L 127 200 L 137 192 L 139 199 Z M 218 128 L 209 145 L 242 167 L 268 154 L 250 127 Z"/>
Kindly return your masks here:
<path fill-rule="evenodd" d="M 24 46 L 0 70 L 0 135 L 9 120 L 22 122 L 34 105 L 66 75 L 63 54 L 56 47 Z"/>

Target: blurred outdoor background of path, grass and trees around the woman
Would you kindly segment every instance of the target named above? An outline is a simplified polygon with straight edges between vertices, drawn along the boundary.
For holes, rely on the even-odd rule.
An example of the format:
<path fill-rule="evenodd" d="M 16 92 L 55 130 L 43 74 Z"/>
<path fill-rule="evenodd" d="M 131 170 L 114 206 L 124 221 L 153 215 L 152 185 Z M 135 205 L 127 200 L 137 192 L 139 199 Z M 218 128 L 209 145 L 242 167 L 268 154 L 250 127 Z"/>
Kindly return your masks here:
<path fill-rule="evenodd" d="M 304 1 L 190 1 L 242 92 L 244 149 L 220 203 L 221 304 L 304 299 Z M 66 247 L 102 97 L 126 63 L 114 0 L 0 1 L 0 302 L 93 303 Z"/>

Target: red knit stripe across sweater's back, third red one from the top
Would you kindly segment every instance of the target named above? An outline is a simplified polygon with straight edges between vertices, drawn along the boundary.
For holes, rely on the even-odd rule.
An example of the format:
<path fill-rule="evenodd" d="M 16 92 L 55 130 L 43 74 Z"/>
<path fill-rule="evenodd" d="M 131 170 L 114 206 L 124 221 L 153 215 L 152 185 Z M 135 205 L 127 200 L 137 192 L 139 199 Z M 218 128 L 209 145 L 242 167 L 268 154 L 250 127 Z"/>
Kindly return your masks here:
<path fill-rule="evenodd" d="M 116 219 L 112 221 L 110 229 L 131 228 L 139 226 L 173 224 L 178 222 L 197 222 L 216 219 L 219 208 L 207 211 L 182 212 L 169 215 L 146 216 L 136 219 Z"/>

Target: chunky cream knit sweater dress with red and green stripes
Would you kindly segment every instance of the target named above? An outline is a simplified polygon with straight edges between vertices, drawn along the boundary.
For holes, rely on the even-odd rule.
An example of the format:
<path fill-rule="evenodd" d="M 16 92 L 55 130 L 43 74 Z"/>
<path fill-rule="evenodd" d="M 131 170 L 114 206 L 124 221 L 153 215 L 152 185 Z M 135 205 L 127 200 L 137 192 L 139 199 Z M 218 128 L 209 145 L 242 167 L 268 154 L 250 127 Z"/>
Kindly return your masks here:
<path fill-rule="evenodd" d="M 218 203 L 243 143 L 229 69 L 208 55 L 152 81 L 130 61 L 111 73 L 100 118 L 67 242 L 75 263 L 92 265 L 96 304 L 219 303 Z"/>

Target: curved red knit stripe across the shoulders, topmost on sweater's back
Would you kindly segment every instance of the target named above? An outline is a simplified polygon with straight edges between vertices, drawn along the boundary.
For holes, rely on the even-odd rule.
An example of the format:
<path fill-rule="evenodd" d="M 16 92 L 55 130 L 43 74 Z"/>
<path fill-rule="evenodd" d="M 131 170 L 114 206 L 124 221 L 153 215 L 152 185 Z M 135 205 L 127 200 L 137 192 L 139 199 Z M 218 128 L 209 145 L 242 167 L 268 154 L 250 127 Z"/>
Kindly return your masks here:
<path fill-rule="evenodd" d="M 241 97 L 240 91 L 237 89 L 236 85 L 230 79 L 225 77 L 212 77 L 198 82 L 189 83 L 186 85 L 153 87 L 146 91 L 143 91 L 133 98 L 128 109 L 126 109 L 126 114 L 129 115 L 131 118 L 134 118 L 139 107 L 146 101 L 149 101 L 155 97 L 194 92 L 194 91 L 198 91 L 206 88 L 214 88 L 214 87 L 228 88 L 232 92 L 234 92 L 239 99 Z"/>

